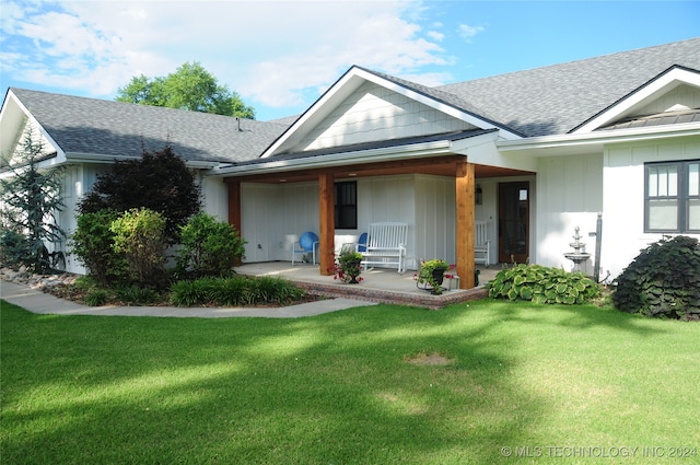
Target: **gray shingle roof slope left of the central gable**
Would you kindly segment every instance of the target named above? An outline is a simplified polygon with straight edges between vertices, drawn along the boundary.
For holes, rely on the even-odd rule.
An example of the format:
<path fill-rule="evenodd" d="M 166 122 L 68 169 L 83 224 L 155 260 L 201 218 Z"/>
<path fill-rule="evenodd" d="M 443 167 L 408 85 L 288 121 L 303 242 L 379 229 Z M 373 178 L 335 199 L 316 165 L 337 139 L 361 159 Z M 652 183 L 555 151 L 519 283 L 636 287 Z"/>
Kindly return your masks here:
<path fill-rule="evenodd" d="M 185 160 L 258 156 L 285 125 L 198 112 L 12 89 L 67 153 L 139 156 L 170 143 Z"/>

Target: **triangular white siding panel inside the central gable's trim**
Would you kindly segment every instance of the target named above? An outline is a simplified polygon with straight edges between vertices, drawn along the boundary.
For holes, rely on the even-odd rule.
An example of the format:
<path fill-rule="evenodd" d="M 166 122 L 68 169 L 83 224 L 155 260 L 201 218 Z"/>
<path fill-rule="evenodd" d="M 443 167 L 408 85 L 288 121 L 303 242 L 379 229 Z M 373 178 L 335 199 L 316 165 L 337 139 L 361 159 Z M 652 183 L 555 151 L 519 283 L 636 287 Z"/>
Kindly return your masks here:
<path fill-rule="evenodd" d="M 306 135 L 293 151 L 474 128 L 428 105 L 366 82 Z"/>

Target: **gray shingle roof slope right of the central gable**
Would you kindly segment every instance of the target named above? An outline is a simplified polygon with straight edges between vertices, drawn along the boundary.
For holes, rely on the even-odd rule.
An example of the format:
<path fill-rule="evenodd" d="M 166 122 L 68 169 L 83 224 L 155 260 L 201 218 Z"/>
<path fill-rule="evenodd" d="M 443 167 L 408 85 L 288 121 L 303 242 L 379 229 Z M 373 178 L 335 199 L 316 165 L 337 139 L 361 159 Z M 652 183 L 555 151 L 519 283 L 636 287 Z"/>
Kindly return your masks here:
<path fill-rule="evenodd" d="M 700 70 L 700 38 L 438 88 L 528 137 L 570 132 L 674 65 Z"/>

